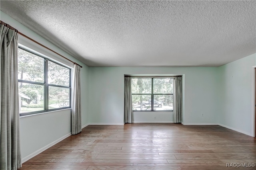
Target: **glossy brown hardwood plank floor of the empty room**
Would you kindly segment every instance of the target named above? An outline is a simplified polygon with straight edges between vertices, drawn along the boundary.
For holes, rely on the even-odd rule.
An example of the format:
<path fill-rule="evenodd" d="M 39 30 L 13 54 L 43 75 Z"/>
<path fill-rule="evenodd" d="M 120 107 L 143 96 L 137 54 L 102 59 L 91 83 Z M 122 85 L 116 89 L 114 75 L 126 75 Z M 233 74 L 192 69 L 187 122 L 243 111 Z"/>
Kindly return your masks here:
<path fill-rule="evenodd" d="M 133 123 L 89 125 L 20 170 L 255 170 L 254 163 L 255 137 L 218 125 Z"/>

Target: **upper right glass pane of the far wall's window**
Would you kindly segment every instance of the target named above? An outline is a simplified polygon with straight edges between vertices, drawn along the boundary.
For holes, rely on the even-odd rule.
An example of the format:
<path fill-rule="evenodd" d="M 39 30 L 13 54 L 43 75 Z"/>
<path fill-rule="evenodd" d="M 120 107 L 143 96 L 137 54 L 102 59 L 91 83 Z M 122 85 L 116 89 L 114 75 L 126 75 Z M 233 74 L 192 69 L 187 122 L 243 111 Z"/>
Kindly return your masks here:
<path fill-rule="evenodd" d="M 154 94 L 173 94 L 173 78 L 154 78 Z"/>

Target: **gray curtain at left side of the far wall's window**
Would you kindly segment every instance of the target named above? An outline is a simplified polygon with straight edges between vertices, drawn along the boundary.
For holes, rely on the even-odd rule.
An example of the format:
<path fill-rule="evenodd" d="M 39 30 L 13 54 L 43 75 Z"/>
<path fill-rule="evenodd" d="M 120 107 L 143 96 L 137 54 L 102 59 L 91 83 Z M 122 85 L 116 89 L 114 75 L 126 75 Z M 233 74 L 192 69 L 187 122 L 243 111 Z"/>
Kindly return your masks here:
<path fill-rule="evenodd" d="M 132 123 L 132 79 L 124 77 L 124 123 Z"/>

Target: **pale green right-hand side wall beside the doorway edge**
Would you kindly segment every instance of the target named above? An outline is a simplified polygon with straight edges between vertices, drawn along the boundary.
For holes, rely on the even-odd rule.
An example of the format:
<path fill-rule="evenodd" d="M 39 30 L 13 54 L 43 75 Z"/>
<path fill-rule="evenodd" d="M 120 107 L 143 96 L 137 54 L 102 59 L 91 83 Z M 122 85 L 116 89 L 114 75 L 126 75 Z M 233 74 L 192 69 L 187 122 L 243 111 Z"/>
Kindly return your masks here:
<path fill-rule="evenodd" d="M 253 135 L 254 66 L 256 54 L 220 66 L 218 123 Z"/>

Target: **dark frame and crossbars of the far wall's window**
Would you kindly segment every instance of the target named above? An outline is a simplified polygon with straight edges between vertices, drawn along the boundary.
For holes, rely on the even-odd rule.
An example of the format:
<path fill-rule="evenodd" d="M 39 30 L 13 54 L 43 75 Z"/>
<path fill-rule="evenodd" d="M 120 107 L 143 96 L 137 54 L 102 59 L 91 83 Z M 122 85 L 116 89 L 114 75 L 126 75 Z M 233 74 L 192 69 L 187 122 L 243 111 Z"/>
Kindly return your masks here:
<path fill-rule="evenodd" d="M 172 101 L 174 96 L 174 87 L 172 93 L 154 93 L 154 78 L 172 78 L 174 76 L 131 76 L 131 78 L 151 78 L 151 93 L 132 93 L 132 95 L 151 95 L 151 110 L 132 110 L 132 111 L 173 111 L 172 110 L 154 110 L 154 95 L 172 95 Z"/>

